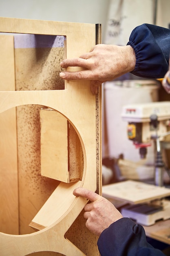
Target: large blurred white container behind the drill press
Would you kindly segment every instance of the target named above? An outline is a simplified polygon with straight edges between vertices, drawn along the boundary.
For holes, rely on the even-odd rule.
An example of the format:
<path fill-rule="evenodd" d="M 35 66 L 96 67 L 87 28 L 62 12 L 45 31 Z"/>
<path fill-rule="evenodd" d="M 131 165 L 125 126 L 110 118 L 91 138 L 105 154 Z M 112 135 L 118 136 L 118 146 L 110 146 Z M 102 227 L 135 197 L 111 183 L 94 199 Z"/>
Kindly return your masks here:
<path fill-rule="evenodd" d="M 136 149 L 127 138 L 127 122 L 121 119 L 124 105 L 132 103 L 148 103 L 158 101 L 159 85 L 156 80 L 124 80 L 104 83 L 103 115 L 103 157 L 118 157 L 123 153 L 124 158 L 138 162 L 139 149 Z M 108 141 L 104 139 L 108 138 Z M 152 143 L 153 144 L 153 143 Z M 154 147 L 148 147 L 147 164 L 154 162 Z"/>

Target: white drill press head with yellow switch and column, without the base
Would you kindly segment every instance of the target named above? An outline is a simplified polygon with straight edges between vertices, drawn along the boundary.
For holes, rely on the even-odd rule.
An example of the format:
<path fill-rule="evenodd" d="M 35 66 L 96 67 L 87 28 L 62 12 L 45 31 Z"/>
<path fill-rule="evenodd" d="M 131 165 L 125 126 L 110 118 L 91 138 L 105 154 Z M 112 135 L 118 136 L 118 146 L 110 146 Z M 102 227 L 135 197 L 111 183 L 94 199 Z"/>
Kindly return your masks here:
<path fill-rule="evenodd" d="M 170 135 L 170 102 L 160 101 L 126 105 L 121 117 L 128 122 L 127 135 L 139 149 L 141 158 L 145 158 L 151 140 L 156 142 L 155 185 L 163 186 L 163 170 L 160 141 Z"/>

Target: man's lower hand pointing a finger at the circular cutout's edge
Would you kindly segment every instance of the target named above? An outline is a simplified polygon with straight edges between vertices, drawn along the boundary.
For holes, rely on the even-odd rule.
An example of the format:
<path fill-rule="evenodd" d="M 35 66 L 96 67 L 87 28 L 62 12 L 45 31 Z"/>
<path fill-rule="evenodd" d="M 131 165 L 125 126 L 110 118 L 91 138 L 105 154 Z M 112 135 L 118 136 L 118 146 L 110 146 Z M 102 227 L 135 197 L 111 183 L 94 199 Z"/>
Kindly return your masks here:
<path fill-rule="evenodd" d="M 87 220 L 86 227 L 97 236 L 113 222 L 123 218 L 111 202 L 93 191 L 79 187 L 73 194 L 91 201 L 84 207 L 84 218 Z"/>

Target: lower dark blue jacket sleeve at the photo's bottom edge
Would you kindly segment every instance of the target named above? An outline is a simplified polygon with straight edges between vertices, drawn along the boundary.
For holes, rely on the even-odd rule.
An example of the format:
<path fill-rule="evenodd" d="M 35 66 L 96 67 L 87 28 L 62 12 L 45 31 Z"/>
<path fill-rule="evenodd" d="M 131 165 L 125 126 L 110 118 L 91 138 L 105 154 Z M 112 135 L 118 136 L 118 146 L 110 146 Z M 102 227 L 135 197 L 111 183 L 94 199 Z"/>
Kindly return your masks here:
<path fill-rule="evenodd" d="M 129 218 L 105 229 L 97 245 L 101 256 L 165 256 L 146 241 L 144 228 Z"/>

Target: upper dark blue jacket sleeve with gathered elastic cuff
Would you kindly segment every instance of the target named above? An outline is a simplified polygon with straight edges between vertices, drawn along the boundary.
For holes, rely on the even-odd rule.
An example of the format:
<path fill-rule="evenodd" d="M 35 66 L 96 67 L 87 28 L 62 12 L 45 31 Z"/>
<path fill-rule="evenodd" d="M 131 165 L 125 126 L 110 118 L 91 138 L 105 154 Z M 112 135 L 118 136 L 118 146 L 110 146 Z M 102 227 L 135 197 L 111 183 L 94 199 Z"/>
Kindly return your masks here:
<path fill-rule="evenodd" d="M 136 54 L 135 70 L 131 73 L 144 78 L 163 78 L 170 57 L 170 29 L 143 24 L 133 29 L 129 42 Z"/>

